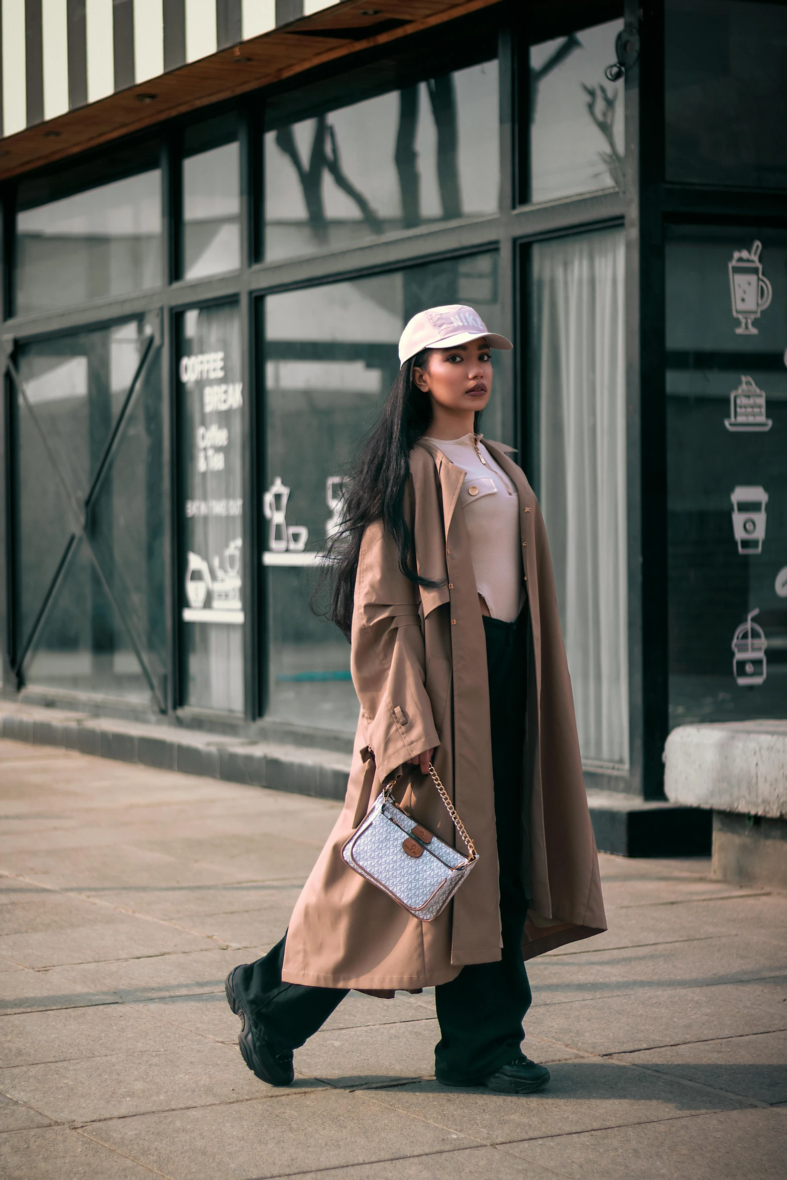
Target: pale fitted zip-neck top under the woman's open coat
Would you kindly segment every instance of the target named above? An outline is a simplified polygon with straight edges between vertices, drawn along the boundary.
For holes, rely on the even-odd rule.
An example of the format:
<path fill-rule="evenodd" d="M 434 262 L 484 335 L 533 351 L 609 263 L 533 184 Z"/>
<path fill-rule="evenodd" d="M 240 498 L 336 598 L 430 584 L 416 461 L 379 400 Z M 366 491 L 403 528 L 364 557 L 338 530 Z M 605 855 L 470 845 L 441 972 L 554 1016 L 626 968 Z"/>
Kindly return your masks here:
<path fill-rule="evenodd" d="M 519 530 L 519 496 L 484 444 L 479 451 L 473 435 L 460 439 L 426 438 L 465 472 L 459 503 L 465 513 L 476 588 L 484 596 L 492 618 L 512 623 L 525 602 Z"/>

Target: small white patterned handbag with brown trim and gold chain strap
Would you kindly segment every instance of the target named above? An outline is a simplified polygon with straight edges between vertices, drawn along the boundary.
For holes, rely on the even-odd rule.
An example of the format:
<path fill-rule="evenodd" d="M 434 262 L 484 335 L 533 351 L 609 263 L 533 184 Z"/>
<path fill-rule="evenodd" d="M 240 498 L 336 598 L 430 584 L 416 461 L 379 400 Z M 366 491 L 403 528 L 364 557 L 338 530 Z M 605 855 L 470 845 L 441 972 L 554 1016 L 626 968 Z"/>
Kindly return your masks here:
<path fill-rule="evenodd" d="M 378 795 L 369 814 L 342 847 L 342 857 L 350 868 L 421 922 L 432 922 L 445 910 L 478 863 L 476 845 L 431 762 L 429 774 L 467 846 L 467 857 L 398 807 L 392 799 L 393 782 Z"/>

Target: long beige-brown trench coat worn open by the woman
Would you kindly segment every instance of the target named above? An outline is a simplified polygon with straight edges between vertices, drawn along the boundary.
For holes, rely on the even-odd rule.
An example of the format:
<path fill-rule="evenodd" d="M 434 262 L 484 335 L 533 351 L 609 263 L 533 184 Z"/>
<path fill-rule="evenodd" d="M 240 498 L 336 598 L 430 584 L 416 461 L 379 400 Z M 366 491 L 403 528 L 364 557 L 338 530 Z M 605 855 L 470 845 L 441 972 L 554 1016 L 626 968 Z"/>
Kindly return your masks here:
<path fill-rule="evenodd" d="M 509 458 L 511 447 L 486 446 L 519 492 L 531 617 L 522 853 L 532 898 L 527 959 L 601 933 L 606 922 L 544 522 L 524 472 Z M 380 523 L 363 536 L 350 654 L 361 703 L 353 763 L 345 807 L 293 912 L 282 971 L 288 983 L 414 990 L 447 983 L 465 964 L 500 958 L 486 643 L 458 510 L 464 479 L 427 440 L 413 448 L 405 507 L 418 571 L 441 581 L 439 589 L 419 588 L 401 573 Z M 455 845 L 433 784 L 407 765 L 429 747 L 437 747 L 435 768 L 479 863 L 452 904 L 422 923 L 353 872 L 341 848 L 398 774 L 404 804 Z"/>

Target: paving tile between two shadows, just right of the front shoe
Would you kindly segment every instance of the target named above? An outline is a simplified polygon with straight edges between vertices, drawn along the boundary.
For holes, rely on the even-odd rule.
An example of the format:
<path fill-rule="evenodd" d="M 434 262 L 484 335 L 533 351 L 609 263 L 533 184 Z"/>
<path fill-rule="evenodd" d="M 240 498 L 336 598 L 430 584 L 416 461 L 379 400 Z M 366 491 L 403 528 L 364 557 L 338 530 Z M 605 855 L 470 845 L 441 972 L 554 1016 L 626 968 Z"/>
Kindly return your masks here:
<path fill-rule="evenodd" d="M 614 986 L 601 998 L 533 1007 L 525 1030 L 584 1053 L 616 1054 L 787 1028 L 785 985 L 755 981 L 700 988 Z"/>

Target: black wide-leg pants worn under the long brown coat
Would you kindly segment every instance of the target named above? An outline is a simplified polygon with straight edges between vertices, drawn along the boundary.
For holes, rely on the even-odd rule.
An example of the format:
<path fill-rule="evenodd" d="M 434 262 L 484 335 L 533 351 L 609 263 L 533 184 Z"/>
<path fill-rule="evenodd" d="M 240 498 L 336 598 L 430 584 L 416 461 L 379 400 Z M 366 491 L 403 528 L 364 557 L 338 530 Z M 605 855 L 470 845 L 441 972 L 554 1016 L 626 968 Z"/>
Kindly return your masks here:
<path fill-rule="evenodd" d="M 435 990 L 440 1041 L 434 1049 L 439 1081 L 472 1084 L 520 1055 L 522 1022 L 531 992 L 522 957 L 527 912 L 522 865 L 522 774 L 527 691 L 527 612 L 514 623 L 484 618 L 492 722 L 494 815 L 500 865 L 503 957 L 461 969 Z M 472 876 L 465 889 L 472 889 Z M 343 988 L 282 982 L 281 939 L 235 977 L 255 1023 L 276 1051 L 297 1049 L 342 1002 Z"/>

